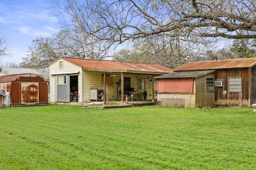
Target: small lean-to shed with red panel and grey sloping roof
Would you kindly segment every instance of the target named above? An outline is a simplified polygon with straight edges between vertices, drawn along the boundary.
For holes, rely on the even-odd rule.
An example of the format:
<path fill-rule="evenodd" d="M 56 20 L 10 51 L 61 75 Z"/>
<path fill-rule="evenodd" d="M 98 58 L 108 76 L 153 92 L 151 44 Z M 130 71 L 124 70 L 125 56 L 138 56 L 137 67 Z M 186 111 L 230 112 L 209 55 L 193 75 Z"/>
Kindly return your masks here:
<path fill-rule="evenodd" d="M 215 70 L 170 72 L 155 77 L 158 105 L 205 107 L 214 105 Z"/>

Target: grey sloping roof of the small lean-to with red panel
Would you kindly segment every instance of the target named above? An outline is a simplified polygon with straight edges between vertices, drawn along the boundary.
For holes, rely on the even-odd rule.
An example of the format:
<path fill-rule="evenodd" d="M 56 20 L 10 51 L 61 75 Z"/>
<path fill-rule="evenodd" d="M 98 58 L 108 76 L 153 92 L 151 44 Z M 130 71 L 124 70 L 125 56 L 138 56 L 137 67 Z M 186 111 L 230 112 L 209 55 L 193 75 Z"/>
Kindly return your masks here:
<path fill-rule="evenodd" d="M 198 78 L 213 72 L 215 72 L 215 70 L 170 72 L 168 74 L 164 74 L 162 76 L 157 76 L 154 78 Z"/>

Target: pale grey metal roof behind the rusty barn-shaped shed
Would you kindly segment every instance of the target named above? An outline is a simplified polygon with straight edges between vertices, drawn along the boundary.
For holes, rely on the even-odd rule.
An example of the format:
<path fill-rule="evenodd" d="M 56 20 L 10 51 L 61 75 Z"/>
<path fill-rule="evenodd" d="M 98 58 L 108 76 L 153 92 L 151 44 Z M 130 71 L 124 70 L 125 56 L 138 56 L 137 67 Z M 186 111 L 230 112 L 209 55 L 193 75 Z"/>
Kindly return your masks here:
<path fill-rule="evenodd" d="M 50 79 L 49 69 L 43 68 L 15 68 L 15 67 L 1 67 L 1 72 L 4 72 L 5 75 L 13 74 L 38 74 L 43 76 L 46 80 Z"/>

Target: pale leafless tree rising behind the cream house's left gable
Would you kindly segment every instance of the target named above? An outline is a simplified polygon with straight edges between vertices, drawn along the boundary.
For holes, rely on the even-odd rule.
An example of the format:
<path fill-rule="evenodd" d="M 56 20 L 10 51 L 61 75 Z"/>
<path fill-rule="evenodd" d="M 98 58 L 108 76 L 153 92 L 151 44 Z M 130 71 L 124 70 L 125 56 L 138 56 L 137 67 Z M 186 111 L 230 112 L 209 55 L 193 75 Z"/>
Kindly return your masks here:
<path fill-rule="evenodd" d="M 77 51 L 72 57 L 84 59 L 102 59 L 108 54 L 113 41 L 106 37 L 104 32 L 104 19 L 100 18 L 103 11 L 100 11 L 100 0 L 64 0 L 62 3 L 54 0 L 50 8 L 56 10 L 55 16 L 65 18 L 59 21 L 62 30 L 67 30 L 66 41 L 72 41 Z M 96 12 L 97 11 L 97 12 Z M 100 29 L 99 29 L 100 28 Z M 64 33 L 62 31 L 62 33 Z M 69 37 L 68 37 L 69 36 Z M 62 48 L 69 50 L 71 46 L 63 41 L 58 41 Z M 74 50 L 72 50 L 74 51 Z M 74 54 L 74 53 L 73 53 Z"/>

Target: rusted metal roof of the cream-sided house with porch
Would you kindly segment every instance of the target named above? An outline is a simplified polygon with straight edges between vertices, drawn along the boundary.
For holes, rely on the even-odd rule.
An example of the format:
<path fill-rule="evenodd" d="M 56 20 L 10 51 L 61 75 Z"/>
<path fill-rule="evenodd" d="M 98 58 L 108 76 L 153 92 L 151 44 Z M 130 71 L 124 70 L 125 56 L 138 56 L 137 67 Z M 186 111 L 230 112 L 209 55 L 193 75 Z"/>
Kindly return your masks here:
<path fill-rule="evenodd" d="M 75 59 L 61 57 L 70 63 L 81 66 L 88 70 L 106 70 L 106 71 L 137 71 L 137 72 L 172 72 L 172 69 L 160 66 L 158 64 L 150 63 L 132 63 L 112 60 L 89 60 L 89 59 Z"/>

